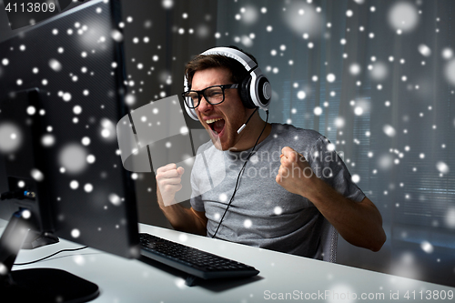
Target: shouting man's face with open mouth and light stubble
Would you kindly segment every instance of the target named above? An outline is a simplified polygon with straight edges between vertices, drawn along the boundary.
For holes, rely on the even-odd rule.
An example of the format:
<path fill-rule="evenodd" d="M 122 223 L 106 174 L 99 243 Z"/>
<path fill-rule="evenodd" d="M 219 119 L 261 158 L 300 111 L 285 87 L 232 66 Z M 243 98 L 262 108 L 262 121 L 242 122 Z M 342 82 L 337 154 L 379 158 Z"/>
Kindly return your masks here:
<path fill-rule="evenodd" d="M 202 90 L 208 86 L 233 84 L 227 68 L 214 67 L 197 71 L 193 76 L 191 89 Z M 227 150 L 235 147 L 243 135 L 237 131 L 248 118 L 247 109 L 243 106 L 238 90 L 225 89 L 225 100 L 215 106 L 210 105 L 201 96 L 196 113 L 200 123 L 207 129 L 212 142 L 218 149 Z M 217 144 L 219 140 L 220 146 Z"/>

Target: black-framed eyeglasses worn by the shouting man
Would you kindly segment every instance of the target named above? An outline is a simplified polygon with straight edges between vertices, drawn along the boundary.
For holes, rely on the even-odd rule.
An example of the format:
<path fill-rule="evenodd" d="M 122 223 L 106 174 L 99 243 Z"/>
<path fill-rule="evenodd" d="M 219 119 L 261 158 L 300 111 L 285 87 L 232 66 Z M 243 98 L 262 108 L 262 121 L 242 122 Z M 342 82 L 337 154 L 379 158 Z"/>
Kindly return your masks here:
<path fill-rule="evenodd" d="M 204 96 L 206 101 L 215 106 L 225 100 L 225 89 L 237 88 L 238 84 L 224 86 L 208 86 L 203 90 L 188 90 L 182 93 L 183 99 L 189 108 L 196 108 L 200 104 L 201 96 Z"/>

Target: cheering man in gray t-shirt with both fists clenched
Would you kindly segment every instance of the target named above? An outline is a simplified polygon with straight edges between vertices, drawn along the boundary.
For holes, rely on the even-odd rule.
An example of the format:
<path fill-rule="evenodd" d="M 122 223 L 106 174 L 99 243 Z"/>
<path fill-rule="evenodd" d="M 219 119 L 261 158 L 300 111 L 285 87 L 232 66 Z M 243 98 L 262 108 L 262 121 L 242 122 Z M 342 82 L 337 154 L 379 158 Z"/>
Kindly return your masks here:
<path fill-rule="evenodd" d="M 199 176 L 205 168 L 195 163 L 191 207 L 185 208 L 174 200 L 183 167 L 158 168 L 158 204 L 173 227 L 321 258 L 321 230 L 327 219 L 349 243 L 373 251 L 382 247 L 386 236 L 378 209 L 350 180 L 327 138 L 313 130 L 269 124 L 255 108 L 247 108 L 234 87 L 249 75 L 231 57 L 196 56 L 185 74 L 190 87 L 186 96 L 192 97 L 197 118 L 223 151 L 227 176 L 213 190 L 200 191 Z M 216 93 L 207 88 L 212 86 Z M 253 147 L 256 153 L 251 157 Z"/>

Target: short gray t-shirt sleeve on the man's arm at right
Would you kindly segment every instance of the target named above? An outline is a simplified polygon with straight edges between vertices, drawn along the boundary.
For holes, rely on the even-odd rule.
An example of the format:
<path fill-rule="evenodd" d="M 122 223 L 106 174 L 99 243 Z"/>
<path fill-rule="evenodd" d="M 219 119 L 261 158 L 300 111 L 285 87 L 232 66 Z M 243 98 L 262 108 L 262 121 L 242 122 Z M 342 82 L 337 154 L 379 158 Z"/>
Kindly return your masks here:
<path fill-rule="evenodd" d="M 365 198 L 363 191 L 352 181 L 348 167 L 328 138 L 320 136 L 306 157 L 316 176 L 341 195 L 356 202 Z"/>

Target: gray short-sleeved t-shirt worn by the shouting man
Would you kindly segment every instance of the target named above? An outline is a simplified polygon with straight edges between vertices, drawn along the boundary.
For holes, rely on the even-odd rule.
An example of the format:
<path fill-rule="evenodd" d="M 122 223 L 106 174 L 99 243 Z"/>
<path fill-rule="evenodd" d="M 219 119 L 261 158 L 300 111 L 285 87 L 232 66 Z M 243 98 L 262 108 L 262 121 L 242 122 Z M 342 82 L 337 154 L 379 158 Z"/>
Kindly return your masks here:
<path fill-rule="evenodd" d="M 275 181 L 284 146 L 306 157 L 314 174 L 343 196 L 356 202 L 365 197 L 351 181 L 348 168 L 325 136 L 314 130 L 272 124 L 270 135 L 258 144 L 255 155 L 248 160 L 217 238 L 321 258 L 319 246 L 324 217 L 307 198 L 288 192 Z M 195 210 L 206 213 L 207 237 L 212 237 L 217 230 L 249 152 L 250 149 L 218 151 L 211 142 L 197 150 L 197 154 L 204 153 L 205 157 L 197 157 L 192 169 L 190 202 Z M 308 169 L 304 174 L 309 176 L 310 172 Z M 213 188 L 207 190 L 207 175 L 225 177 L 216 184 L 210 179 Z"/>

